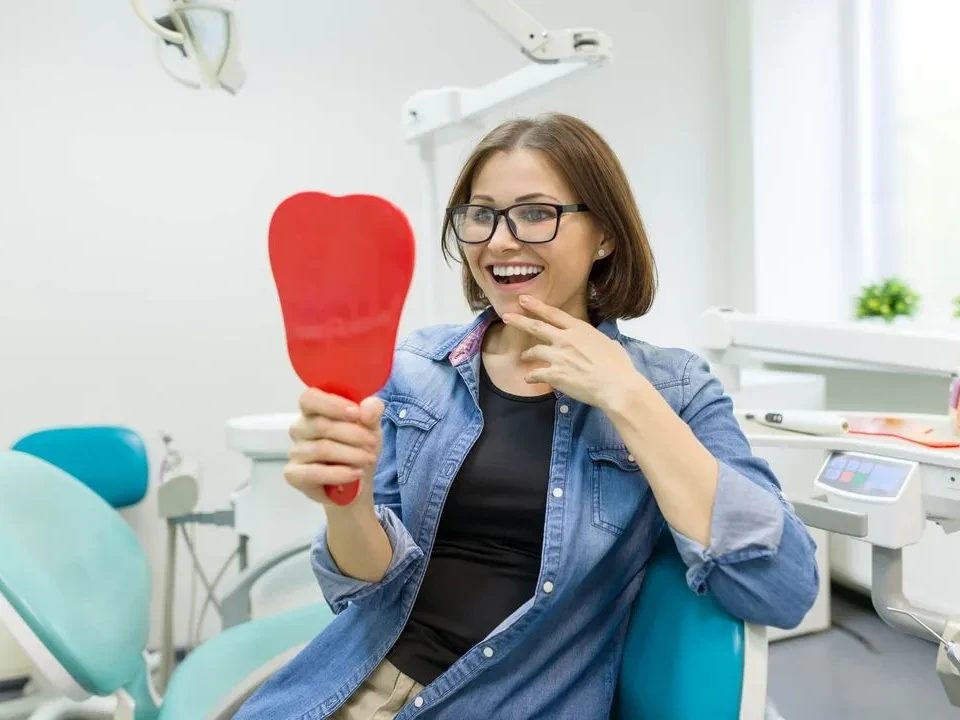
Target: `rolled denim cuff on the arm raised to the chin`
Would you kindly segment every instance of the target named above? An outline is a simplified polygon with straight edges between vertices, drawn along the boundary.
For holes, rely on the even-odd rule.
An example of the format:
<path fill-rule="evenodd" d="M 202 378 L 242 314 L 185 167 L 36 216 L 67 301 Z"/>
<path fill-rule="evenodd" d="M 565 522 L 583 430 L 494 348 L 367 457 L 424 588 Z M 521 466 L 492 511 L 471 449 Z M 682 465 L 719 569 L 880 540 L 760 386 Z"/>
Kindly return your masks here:
<path fill-rule="evenodd" d="M 783 536 L 784 506 L 776 492 L 729 465 L 721 462 L 719 466 L 710 546 L 670 528 L 688 568 L 687 584 L 698 595 L 707 591 L 707 577 L 714 567 L 769 557 L 777 552 Z"/>

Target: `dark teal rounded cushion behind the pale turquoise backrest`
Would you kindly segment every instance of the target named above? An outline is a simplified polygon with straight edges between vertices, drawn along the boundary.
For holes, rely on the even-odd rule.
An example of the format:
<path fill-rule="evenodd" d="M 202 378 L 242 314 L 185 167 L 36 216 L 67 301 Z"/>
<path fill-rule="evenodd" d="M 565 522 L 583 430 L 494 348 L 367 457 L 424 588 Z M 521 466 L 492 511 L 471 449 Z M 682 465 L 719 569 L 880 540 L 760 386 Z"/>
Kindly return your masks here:
<path fill-rule="evenodd" d="M 147 494 L 150 463 L 146 446 L 129 428 L 50 428 L 21 438 L 13 449 L 65 470 L 115 508 L 135 505 Z"/>

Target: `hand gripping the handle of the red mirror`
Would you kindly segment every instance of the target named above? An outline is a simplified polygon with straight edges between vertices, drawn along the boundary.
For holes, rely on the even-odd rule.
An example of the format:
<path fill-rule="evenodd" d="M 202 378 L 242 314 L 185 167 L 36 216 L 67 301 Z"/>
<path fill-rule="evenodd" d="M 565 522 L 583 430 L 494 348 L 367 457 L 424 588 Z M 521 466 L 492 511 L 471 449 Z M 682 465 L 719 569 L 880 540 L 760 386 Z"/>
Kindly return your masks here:
<path fill-rule="evenodd" d="M 383 401 L 369 397 L 359 405 L 313 388 L 300 396 L 300 417 L 290 427 L 293 447 L 284 468 L 287 482 L 329 512 L 373 505 L 373 473 L 380 457 Z M 334 504 L 325 486 L 360 480 L 349 505 Z"/>

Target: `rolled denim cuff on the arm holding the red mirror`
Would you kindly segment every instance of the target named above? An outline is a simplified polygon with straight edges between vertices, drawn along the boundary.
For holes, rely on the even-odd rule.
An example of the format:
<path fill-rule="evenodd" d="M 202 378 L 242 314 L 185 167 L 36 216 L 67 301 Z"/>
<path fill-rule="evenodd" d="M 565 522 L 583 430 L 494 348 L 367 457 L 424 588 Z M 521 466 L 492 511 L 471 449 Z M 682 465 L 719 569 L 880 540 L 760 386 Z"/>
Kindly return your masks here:
<path fill-rule="evenodd" d="M 320 584 L 324 598 L 335 613 L 341 612 L 348 603 L 371 608 L 389 604 L 410 577 L 416 561 L 423 557 L 423 550 L 414 542 L 393 510 L 377 506 L 376 513 L 380 527 L 393 548 L 390 565 L 379 582 L 357 580 L 340 571 L 327 545 L 326 525 L 313 542 L 310 553 L 313 574 Z"/>

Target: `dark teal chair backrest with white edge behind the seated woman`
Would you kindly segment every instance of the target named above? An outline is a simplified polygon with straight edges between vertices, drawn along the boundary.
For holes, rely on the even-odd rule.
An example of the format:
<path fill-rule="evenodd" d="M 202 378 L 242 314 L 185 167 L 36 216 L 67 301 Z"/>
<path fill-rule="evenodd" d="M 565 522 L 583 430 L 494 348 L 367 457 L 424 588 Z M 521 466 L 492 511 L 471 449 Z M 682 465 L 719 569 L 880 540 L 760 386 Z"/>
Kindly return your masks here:
<path fill-rule="evenodd" d="M 614 717 L 763 717 L 765 630 L 734 618 L 709 594 L 696 595 L 687 585 L 686 571 L 673 538 L 665 533 L 634 604 Z"/>

